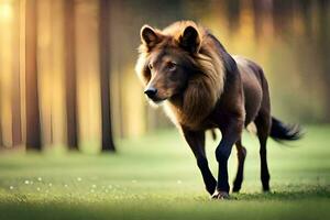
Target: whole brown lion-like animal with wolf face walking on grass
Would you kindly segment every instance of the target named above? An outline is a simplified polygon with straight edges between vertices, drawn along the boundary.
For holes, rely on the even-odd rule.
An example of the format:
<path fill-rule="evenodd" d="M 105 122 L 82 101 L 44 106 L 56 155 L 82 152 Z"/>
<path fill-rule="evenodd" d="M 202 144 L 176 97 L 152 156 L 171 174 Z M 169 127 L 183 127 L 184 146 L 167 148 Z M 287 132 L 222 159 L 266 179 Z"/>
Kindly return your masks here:
<path fill-rule="evenodd" d="M 268 190 L 266 140 L 299 138 L 299 129 L 271 117 L 268 85 L 262 68 L 243 57 L 232 57 L 205 28 L 191 21 L 176 22 L 164 30 L 144 25 L 135 66 L 152 102 L 165 109 L 191 147 L 206 188 L 213 198 L 229 193 L 227 161 L 237 145 L 239 168 L 233 190 L 241 188 L 246 150 L 241 144 L 244 127 L 254 122 L 261 143 L 262 183 Z M 273 122 L 273 124 L 272 124 Z M 216 156 L 218 182 L 205 154 L 205 131 L 220 129 L 222 140 Z"/>

